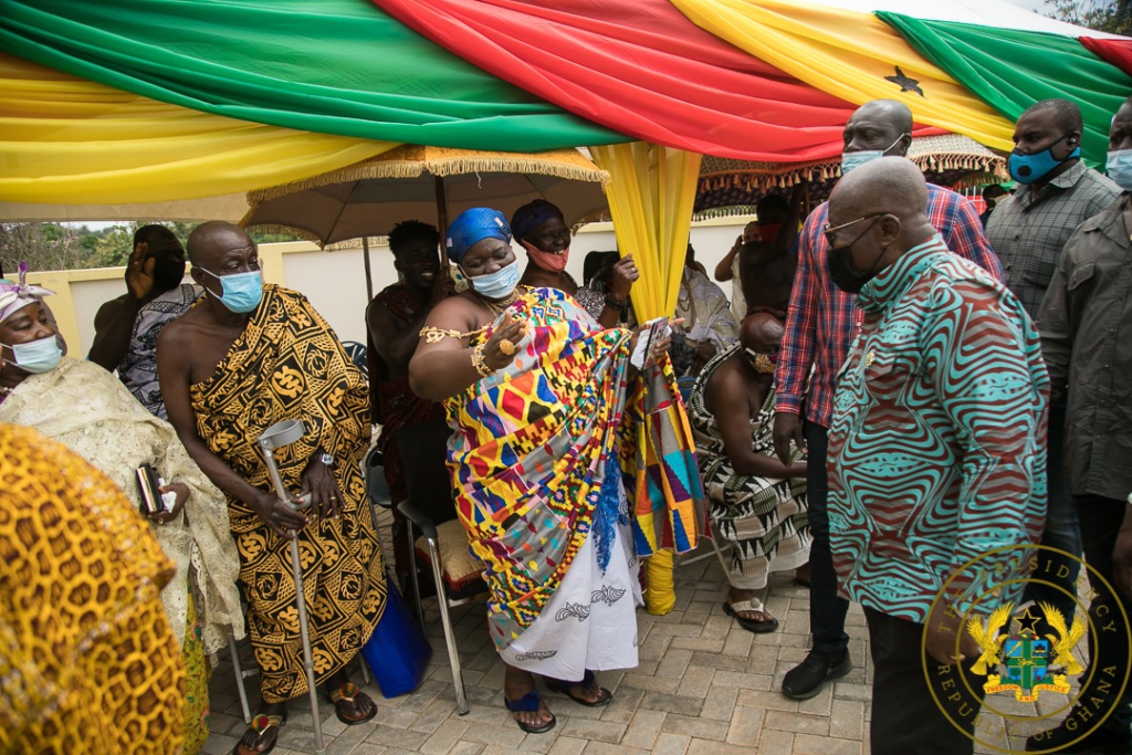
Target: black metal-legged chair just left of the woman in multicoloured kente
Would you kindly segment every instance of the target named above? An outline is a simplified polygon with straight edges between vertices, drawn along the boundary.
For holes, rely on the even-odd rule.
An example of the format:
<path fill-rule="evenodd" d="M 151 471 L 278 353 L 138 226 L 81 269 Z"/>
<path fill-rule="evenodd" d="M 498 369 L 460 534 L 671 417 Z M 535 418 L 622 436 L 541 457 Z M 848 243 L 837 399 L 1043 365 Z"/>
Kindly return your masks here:
<path fill-rule="evenodd" d="M 437 592 L 437 607 L 440 610 L 440 625 L 444 629 L 444 638 L 448 647 L 448 662 L 452 666 L 452 680 L 456 692 L 456 710 L 461 715 L 464 715 L 468 713 L 468 696 L 464 693 L 464 677 L 460 667 L 460 652 L 456 650 L 456 637 L 452 628 L 452 618 L 448 609 L 466 603 L 474 595 L 486 592 L 487 584 L 477 576 L 458 594 L 454 594 L 449 582 L 445 578 L 445 568 L 440 556 L 440 539 L 444 535 L 437 531 L 437 525 L 456 518 L 452 482 L 445 465 L 451 434 L 452 431 L 444 420 L 422 422 L 421 424 L 414 424 L 397 432 L 397 443 L 401 446 L 402 464 L 405 471 L 405 483 L 409 489 L 409 498 L 401 501 L 397 508 L 412 524 L 409 527 L 409 554 L 412 565 L 410 572 L 413 580 L 413 592 L 418 595 L 420 594 L 420 586 L 417 577 L 414 526 L 423 535 L 427 547 L 424 556 L 426 560 L 429 561 L 428 565 L 431 567 L 432 581 Z M 464 538 L 463 544 L 465 548 L 468 547 L 466 535 L 462 526 L 458 534 L 451 533 L 448 537 Z M 445 542 L 447 543 L 447 539 L 445 539 Z M 417 610 L 423 625 L 423 609 L 420 602 L 418 602 Z"/>

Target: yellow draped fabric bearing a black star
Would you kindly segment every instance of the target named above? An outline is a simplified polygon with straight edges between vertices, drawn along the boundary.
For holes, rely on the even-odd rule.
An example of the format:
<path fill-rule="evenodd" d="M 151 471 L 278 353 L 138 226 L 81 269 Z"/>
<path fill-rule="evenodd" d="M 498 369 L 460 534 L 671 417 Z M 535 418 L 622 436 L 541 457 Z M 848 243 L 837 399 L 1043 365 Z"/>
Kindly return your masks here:
<path fill-rule="evenodd" d="M 1009 120 L 872 14 L 797 0 L 672 0 L 672 5 L 704 31 L 822 92 L 857 104 L 900 100 L 918 123 L 963 134 L 995 149 L 1014 147 Z"/>

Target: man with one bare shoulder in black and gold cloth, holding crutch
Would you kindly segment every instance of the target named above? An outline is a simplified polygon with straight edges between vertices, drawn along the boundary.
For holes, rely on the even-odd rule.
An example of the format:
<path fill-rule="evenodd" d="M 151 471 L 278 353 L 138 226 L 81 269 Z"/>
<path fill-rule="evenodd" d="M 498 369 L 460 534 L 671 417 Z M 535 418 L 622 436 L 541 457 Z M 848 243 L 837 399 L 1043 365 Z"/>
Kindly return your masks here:
<path fill-rule="evenodd" d="M 342 722 L 377 713 L 345 672 L 385 609 L 381 551 L 360 469 L 370 436 L 369 395 L 361 371 L 307 299 L 263 284 L 256 244 L 242 229 L 204 223 L 189 237 L 188 254 L 206 294 L 162 331 L 157 372 L 169 421 L 228 495 L 264 698 L 235 752 L 263 753 L 286 721 L 286 701 L 308 692 L 292 538 L 310 556 L 305 593 L 317 683 L 325 684 Z M 301 419 L 307 434 L 276 457 L 286 488 L 310 494 L 306 512 L 272 491 L 256 443 L 288 419 Z"/>

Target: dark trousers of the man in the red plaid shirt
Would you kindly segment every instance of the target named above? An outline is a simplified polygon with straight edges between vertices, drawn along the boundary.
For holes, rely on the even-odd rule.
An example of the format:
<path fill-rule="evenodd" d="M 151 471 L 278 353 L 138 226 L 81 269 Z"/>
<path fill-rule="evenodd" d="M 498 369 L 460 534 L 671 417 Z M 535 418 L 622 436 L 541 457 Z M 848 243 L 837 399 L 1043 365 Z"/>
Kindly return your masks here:
<path fill-rule="evenodd" d="M 806 422 L 806 500 L 809 506 L 809 632 L 814 650 L 840 655 L 849 646 L 846 614 L 849 601 L 838 595 L 838 575 L 830 551 L 830 486 L 825 474 L 829 430 Z"/>

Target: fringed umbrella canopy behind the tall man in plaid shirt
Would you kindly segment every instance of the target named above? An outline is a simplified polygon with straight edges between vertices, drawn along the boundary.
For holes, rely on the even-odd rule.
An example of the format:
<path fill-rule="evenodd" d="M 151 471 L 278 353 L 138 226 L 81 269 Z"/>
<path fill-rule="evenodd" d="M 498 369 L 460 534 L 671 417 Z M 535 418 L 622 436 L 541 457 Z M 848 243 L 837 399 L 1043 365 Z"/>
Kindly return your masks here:
<path fill-rule="evenodd" d="M 924 171 L 928 181 L 952 189 L 1010 178 L 1005 157 L 957 134 L 914 138 L 908 157 Z M 811 182 L 811 201 L 823 201 L 839 178 L 840 158 L 760 163 L 705 156 L 696 189 L 696 218 L 749 214 L 763 195 L 788 190 L 798 181 Z"/>

